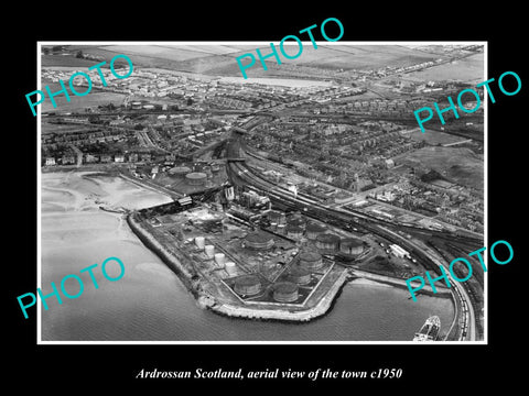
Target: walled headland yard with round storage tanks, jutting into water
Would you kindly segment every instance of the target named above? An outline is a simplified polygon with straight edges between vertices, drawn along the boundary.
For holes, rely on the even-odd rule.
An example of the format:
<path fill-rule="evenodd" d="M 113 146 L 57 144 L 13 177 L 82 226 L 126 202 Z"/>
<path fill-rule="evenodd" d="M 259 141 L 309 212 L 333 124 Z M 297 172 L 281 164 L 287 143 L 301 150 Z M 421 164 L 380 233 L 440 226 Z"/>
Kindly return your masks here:
<path fill-rule="evenodd" d="M 420 271 L 396 244 L 273 208 L 267 196 L 247 188 L 226 183 L 207 188 L 208 176 L 191 167 L 176 170 L 182 188 L 202 191 L 133 212 L 129 221 L 155 241 L 151 249 L 184 277 L 199 304 L 214 311 L 311 320 L 328 310 L 356 271 L 382 279 L 403 279 Z"/>

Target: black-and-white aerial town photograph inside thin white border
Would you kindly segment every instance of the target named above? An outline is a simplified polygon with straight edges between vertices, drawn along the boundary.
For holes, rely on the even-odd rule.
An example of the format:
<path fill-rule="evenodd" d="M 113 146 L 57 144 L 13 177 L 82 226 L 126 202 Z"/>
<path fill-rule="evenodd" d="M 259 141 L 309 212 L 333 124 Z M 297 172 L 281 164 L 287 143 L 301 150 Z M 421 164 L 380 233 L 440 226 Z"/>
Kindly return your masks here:
<path fill-rule="evenodd" d="M 486 341 L 486 42 L 305 40 L 39 43 L 39 342 Z"/>

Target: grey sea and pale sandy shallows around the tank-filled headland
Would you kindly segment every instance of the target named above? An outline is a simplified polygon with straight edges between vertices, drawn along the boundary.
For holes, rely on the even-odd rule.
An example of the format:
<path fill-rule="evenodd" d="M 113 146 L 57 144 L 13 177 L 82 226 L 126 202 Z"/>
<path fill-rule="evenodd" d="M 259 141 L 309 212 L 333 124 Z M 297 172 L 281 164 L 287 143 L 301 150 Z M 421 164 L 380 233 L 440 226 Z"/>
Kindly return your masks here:
<path fill-rule="evenodd" d="M 321 319 L 291 322 L 246 320 L 201 308 L 181 279 L 130 230 L 111 207 L 138 209 L 170 201 L 119 177 L 82 173 L 43 174 L 43 283 L 71 273 L 86 260 L 119 256 L 127 275 L 83 300 L 67 300 L 42 315 L 42 340 L 56 341 L 410 341 L 432 312 L 450 323 L 450 299 L 356 279 L 346 283 Z M 141 197 L 141 198 L 140 198 Z M 111 199 L 110 199 L 111 198 Z M 75 232 L 72 232 L 73 229 Z M 87 238 L 90 235 L 90 238 Z M 96 238 L 97 237 L 97 238 Z M 95 254 L 97 252 L 97 254 Z M 89 298 L 90 296 L 91 298 Z M 443 329 L 441 330 L 441 332 Z"/>

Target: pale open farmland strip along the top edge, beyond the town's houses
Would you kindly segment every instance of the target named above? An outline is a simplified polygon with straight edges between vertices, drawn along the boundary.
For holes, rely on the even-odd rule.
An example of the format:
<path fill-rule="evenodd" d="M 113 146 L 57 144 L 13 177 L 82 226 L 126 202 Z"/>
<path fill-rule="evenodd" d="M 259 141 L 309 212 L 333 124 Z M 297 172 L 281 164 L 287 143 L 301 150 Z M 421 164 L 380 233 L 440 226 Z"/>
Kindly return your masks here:
<path fill-rule="evenodd" d="M 272 37 L 279 41 L 277 37 Z M 259 43 L 259 44 L 257 44 Z M 117 54 L 130 57 L 132 64 L 141 67 L 153 67 L 169 70 L 203 74 L 209 76 L 241 76 L 236 57 L 251 53 L 256 64 L 247 70 L 249 77 L 288 77 L 291 73 L 281 65 L 274 69 L 264 70 L 260 65 L 256 48 L 263 55 L 271 54 L 271 48 L 262 42 L 252 44 L 207 44 L 194 43 L 190 45 L 162 45 L 149 44 L 118 44 L 118 45 L 71 45 L 69 51 L 83 51 L 104 57 L 107 63 Z M 279 45 L 276 46 L 279 52 Z M 285 42 L 285 52 L 293 55 L 298 52 L 298 44 L 293 41 Z M 285 65 L 309 66 L 315 69 L 348 70 L 348 69 L 379 69 L 386 66 L 409 66 L 428 61 L 444 58 L 442 46 L 403 46 L 403 45 L 358 45 L 358 43 L 326 43 L 319 41 L 314 48 L 310 41 L 303 42 L 303 52 L 296 59 L 287 59 L 280 55 L 281 63 Z M 443 64 L 423 72 L 402 75 L 402 79 L 412 81 L 460 79 L 478 82 L 483 80 L 483 54 L 472 55 L 452 64 Z M 249 58 L 244 59 L 246 64 Z M 45 66 L 91 66 L 96 61 L 77 59 L 74 56 L 43 56 L 42 65 Z M 266 59 L 267 65 L 277 64 L 274 57 Z"/>

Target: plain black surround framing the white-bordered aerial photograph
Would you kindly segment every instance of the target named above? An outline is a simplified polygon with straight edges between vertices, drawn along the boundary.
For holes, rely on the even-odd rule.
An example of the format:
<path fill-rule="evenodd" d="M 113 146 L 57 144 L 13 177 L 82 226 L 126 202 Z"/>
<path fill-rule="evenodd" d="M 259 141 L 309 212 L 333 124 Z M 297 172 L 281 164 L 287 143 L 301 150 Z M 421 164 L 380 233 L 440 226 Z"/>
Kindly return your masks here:
<path fill-rule="evenodd" d="M 525 108 L 529 75 L 522 41 L 525 21 L 517 6 L 506 2 L 495 9 L 462 8 L 460 4 L 430 6 L 384 3 L 369 7 L 293 7 L 242 3 L 238 7 L 207 3 L 90 3 L 73 9 L 57 3 L 42 4 L 19 13 L 20 28 L 4 32 L 2 72 L 4 160 L 6 258 L 2 302 L 8 314 L 3 327 L 7 354 L 3 371 L 9 382 L 22 387 L 61 389 L 74 382 L 88 392 L 114 389 L 184 391 L 185 385 L 264 389 L 306 385 L 346 392 L 359 388 L 411 393 L 460 393 L 482 391 L 492 384 L 514 384 L 522 378 L 522 345 L 526 342 L 523 261 L 527 151 Z M 515 258 L 507 265 L 489 261 L 489 309 L 487 345 L 36 345 L 36 315 L 24 319 L 17 296 L 36 288 L 36 119 L 25 94 L 36 89 L 37 41 L 279 41 L 326 18 L 337 18 L 345 30 L 341 41 L 487 41 L 488 78 L 516 72 L 521 91 L 512 97 L 499 92 L 488 103 L 488 245 L 507 240 Z M 9 19 L 9 18 L 8 18 Z M 14 19 L 14 15 L 13 15 Z M 319 34 L 319 33 L 317 33 Z M 334 36 L 330 32 L 330 36 Z M 303 38 L 303 37 L 302 37 Z M 304 40 L 304 38 L 303 38 Z M 316 36 L 317 40 L 317 36 Z M 9 184 L 9 185 L 8 185 Z M 14 194 L 13 194 L 14 193 Z M 36 311 L 33 311 L 36 314 Z M 521 319 L 522 320 L 522 319 Z M 521 358 L 520 360 L 518 360 Z M 311 371 L 316 369 L 368 371 L 402 369 L 400 380 L 134 380 L 141 369 L 159 371 L 262 370 Z M 19 388 L 20 389 L 20 388 Z M 65 388 L 62 388 L 65 389 Z"/>

